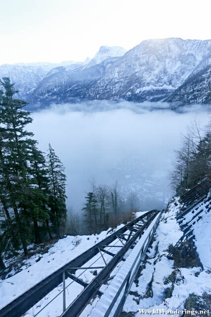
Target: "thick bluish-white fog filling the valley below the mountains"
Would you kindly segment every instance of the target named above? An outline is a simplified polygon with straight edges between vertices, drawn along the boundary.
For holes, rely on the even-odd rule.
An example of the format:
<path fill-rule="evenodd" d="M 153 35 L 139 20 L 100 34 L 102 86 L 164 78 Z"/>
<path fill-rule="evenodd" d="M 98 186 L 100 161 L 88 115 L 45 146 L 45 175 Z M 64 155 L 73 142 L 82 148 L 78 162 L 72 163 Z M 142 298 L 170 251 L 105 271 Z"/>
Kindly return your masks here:
<path fill-rule="evenodd" d="M 151 111 L 152 106 L 157 109 Z M 95 101 L 33 112 L 27 130 L 35 133 L 42 151 L 50 143 L 64 164 L 68 209 L 81 211 L 93 178 L 97 185 L 108 186 L 117 180 L 125 197 L 131 190 L 150 199 L 140 210 L 158 208 L 163 191 L 169 201 L 168 177 L 180 132 L 185 133 L 195 117 L 204 126 L 209 115 L 205 106 L 184 107 L 183 113 L 168 106 L 121 102 L 115 109 L 109 101 Z"/>

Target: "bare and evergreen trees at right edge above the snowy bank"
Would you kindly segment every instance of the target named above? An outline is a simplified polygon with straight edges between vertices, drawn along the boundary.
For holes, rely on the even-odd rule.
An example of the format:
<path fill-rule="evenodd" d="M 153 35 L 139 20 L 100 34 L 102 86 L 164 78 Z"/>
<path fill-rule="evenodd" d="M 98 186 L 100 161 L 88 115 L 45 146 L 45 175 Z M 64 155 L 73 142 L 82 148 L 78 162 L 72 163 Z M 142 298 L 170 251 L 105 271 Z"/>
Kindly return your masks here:
<path fill-rule="evenodd" d="M 180 148 L 175 151 L 170 180 L 177 195 L 204 179 L 211 186 L 211 120 L 205 129 L 195 119 L 181 136 Z"/>

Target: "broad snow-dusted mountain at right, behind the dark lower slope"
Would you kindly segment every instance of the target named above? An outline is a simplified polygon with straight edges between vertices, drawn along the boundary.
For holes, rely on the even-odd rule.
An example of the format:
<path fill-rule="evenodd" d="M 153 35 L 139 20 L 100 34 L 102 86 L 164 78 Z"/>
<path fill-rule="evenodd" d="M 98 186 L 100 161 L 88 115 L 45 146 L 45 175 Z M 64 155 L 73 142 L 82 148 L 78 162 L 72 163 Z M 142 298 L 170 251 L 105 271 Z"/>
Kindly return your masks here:
<path fill-rule="evenodd" d="M 177 38 L 143 41 L 117 60 L 89 93 L 97 99 L 162 100 L 209 53 L 211 41 Z"/>

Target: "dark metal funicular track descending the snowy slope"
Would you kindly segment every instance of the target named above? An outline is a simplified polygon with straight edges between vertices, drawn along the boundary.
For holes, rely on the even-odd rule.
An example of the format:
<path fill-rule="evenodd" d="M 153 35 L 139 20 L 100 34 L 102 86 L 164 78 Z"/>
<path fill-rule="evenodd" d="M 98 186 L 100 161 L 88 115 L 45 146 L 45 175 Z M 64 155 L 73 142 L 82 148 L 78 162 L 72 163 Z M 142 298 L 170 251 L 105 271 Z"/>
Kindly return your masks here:
<path fill-rule="evenodd" d="M 63 265 L 58 270 L 54 271 L 42 281 L 32 286 L 26 292 L 22 293 L 13 301 L 5 305 L 0 310 L 0 317 L 22 317 L 33 306 L 40 302 L 44 296 L 49 294 L 61 283 L 63 283 L 63 314 L 60 316 L 78 317 L 95 295 L 103 298 L 103 293 L 99 290 L 99 288 L 102 284 L 106 284 L 109 280 L 116 280 L 115 275 L 112 275 L 112 271 L 115 269 L 117 264 L 123 261 L 123 266 L 125 264 L 128 269 L 125 276 L 126 279 L 122 281 L 119 288 L 121 291 L 117 291 L 117 293 L 123 292 L 122 299 L 120 293 L 118 293 L 120 298 L 120 305 L 116 308 L 116 314 L 118 314 L 118 312 L 122 309 L 124 299 L 126 298 L 127 292 L 130 288 L 129 286 L 131 286 L 133 281 L 132 279 L 134 279 L 135 270 L 140 265 L 139 262 L 145 255 L 161 214 L 162 212 L 158 210 L 148 211 L 129 222 L 127 225 L 95 244 L 83 254 Z M 130 249 L 132 249 L 132 251 Z M 131 256 L 130 254 L 128 255 L 129 250 L 131 251 Z M 128 258 L 126 259 L 125 256 L 127 257 L 127 255 Z M 101 259 L 101 263 L 103 260 L 104 264 L 101 264 L 100 266 L 95 264 L 95 259 L 96 261 Z M 90 260 L 94 260 L 94 262 L 90 264 Z M 130 263 L 129 266 L 128 263 Z M 91 282 L 86 283 L 83 279 L 79 278 L 82 274 L 78 274 L 78 272 L 84 272 L 88 269 L 95 269 L 97 272 Z M 69 306 L 66 308 L 66 289 L 71 284 L 65 284 L 67 278 L 71 278 L 72 282 L 77 282 L 82 285 L 84 290 L 72 303 L 69 303 Z M 115 296 L 117 296 L 117 294 Z M 113 301 L 112 303 L 114 304 L 115 302 Z M 109 308 L 110 310 L 112 310 L 114 306 L 112 305 Z M 37 313 L 36 316 L 39 317 L 39 314 Z M 109 316 L 108 312 L 105 313 L 105 316 Z"/>

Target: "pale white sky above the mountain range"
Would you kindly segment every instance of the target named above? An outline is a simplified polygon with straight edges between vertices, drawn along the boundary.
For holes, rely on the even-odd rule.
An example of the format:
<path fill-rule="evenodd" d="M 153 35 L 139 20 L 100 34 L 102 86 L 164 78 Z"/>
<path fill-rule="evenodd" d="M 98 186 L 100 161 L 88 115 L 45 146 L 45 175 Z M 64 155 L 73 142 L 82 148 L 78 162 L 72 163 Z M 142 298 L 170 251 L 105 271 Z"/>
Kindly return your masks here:
<path fill-rule="evenodd" d="M 102 45 L 211 38 L 210 0 L 0 0 L 0 65 L 83 61 Z"/>

